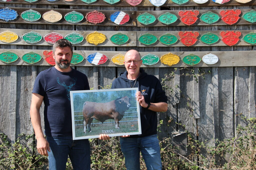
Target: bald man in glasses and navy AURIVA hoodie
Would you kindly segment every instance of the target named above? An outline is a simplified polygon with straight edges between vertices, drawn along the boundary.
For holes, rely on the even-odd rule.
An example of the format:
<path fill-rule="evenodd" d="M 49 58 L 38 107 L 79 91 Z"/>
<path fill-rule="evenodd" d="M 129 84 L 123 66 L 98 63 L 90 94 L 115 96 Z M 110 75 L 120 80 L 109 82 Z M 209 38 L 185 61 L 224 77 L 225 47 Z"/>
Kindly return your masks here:
<path fill-rule="evenodd" d="M 128 170 L 140 169 L 140 152 L 147 169 L 162 169 L 159 141 L 157 139 L 157 113 L 167 111 L 167 96 L 160 81 L 141 69 L 141 55 L 129 50 L 124 56 L 125 72 L 112 83 L 114 88 L 138 87 L 136 98 L 140 103 L 141 135 L 120 137 L 121 150 Z"/>

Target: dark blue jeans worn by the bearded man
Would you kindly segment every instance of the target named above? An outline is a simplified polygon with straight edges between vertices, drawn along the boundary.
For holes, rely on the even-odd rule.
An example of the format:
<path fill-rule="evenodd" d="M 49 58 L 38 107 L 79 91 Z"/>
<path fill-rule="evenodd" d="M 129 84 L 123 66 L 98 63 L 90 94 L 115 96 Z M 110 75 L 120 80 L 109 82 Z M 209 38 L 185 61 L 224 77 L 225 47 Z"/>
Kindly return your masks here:
<path fill-rule="evenodd" d="M 49 170 L 65 170 L 68 155 L 74 170 L 89 170 L 91 167 L 90 144 L 88 139 L 73 140 L 72 136 L 47 136 Z"/>

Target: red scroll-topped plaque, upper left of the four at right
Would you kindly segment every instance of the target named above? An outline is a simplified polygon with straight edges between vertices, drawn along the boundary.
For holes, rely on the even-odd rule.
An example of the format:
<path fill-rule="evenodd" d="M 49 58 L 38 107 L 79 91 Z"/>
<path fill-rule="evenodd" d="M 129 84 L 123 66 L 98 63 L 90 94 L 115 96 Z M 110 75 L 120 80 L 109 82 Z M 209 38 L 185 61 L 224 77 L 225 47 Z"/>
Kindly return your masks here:
<path fill-rule="evenodd" d="M 198 10 L 189 10 L 189 11 L 179 11 L 180 21 L 186 25 L 192 25 L 197 21 L 197 16 L 199 14 Z"/>

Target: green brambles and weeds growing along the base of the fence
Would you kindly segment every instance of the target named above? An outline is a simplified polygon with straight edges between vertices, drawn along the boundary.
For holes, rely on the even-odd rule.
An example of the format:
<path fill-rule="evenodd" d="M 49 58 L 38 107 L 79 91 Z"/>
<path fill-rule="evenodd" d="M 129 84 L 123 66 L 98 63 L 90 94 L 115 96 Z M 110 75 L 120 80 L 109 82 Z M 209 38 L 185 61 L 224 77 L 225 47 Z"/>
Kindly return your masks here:
<path fill-rule="evenodd" d="M 242 115 L 239 115 L 242 116 Z M 188 133 L 188 156 L 179 155 L 172 146 L 170 138 L 164 138 L 159 142 L 163 169 L 178 168 L 196 169 L 256 169 L 256 118 L 246 119 L 247 126 L 238 126 L 236 136 L 223 141 L 197 141 Z M 38 155 L 36 144 L 25 145 L 20 139 L 32 141 L 34 134 L 21 134 L 15 143 L 10 143 L 8 137 L 0 133 L 0 168 L 11 169 L 43 169 L 47 166 L 46 156 Z M 109 141 L 90 139 L 91 143 L 91 168 L 93 169 L 125 169 L 124 158 L 120 149 L 118 137 Z M 215 143 L 215 146 L 209 146 Z M 207 154 L 202 155 L 201 150 Z M 205 152 L 204 152 L 205 153 Z M 228 156 L 227 156 L 228 155 Z M 226 159 L 223 161 L 223 159 Z M 220 161 L 225 162 L 220 164 Z M 72 169 L 70 161 L 67 169 Z M 146 169 L 141 156 L 141 169 Z"/>

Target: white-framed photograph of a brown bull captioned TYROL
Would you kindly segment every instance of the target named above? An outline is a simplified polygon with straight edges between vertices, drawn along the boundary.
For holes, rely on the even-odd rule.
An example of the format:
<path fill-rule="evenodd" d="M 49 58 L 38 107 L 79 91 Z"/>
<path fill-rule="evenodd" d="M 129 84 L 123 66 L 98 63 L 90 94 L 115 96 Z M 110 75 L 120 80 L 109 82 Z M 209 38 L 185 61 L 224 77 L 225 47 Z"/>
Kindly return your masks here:
<path fill-rule="evenodd" d="M 138 88 L 70 91 L 73 140 L 141 134 Z"/>

